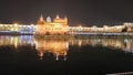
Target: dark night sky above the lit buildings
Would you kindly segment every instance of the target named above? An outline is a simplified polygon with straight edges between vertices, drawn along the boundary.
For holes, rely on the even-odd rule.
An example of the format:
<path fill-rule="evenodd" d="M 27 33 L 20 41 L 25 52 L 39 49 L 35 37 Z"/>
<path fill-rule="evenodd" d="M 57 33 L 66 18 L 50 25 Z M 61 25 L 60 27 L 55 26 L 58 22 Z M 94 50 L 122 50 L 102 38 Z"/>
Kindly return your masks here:
<path fill-rule="evenodd" d="M 69 24 L 121 24 L 133 22 L 133 0 L 0 0 L 0 22 L 37 23 L 40 14 Z"/>

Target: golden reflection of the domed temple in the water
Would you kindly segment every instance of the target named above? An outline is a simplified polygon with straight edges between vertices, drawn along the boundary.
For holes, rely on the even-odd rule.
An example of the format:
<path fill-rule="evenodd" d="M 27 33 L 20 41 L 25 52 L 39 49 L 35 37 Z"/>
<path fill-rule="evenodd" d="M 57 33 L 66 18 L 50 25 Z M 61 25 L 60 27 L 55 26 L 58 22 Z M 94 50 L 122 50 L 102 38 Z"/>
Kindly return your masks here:
<path fill-rule="evenodd" d="M 35 39 L 35 49 L 40 60 L 45 53 L 52 53 L 57 61 L 59 57 L 63 57 L 65 61 L 69 43 L 65 39 Z"/>

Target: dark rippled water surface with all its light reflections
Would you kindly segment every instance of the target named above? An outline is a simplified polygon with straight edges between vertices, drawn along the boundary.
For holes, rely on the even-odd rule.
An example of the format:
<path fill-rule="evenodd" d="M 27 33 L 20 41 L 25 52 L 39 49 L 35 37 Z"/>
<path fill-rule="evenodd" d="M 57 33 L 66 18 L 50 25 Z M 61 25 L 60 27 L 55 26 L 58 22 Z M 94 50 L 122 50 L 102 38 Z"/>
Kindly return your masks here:
<path fill-rule="evenodd" d="M 133 72 L 132 38 L 0 35 L 0 75 L 99 75 L 123 72 Z"/>

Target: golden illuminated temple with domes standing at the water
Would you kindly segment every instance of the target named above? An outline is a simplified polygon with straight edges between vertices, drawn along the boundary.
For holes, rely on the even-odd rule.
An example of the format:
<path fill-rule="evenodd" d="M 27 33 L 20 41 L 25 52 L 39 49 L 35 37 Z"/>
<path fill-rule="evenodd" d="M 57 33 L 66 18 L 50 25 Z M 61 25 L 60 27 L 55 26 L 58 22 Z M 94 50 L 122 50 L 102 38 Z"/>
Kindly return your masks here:
<path fill-rule="evenodd" d="M 53 19 L 53 22 L 50 17 L 47 18 L 47 21 L 41 15 L 38 20 L 35 34 L 40 35 L 65 35 L 68 34 L 68 18 L 60 19 L 57 15 Z"/>

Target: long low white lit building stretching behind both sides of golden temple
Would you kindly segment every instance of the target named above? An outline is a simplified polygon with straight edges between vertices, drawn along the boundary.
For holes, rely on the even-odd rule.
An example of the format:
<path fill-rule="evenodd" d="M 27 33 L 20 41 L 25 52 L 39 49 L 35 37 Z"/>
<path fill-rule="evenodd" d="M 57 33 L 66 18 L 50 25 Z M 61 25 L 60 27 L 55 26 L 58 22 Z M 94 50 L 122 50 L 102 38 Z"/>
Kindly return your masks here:
<path fill-rule="evenodd" d="M 0 32 L 20 32 L 20 33 L 31 33 L 33 34 L 37 30 L 37 25 L 30 24 L 0 24 Z M 126 32 L 133 32 L 133 23 L 124 23 L 123 25 L 108 26 L 68 26 L 69 34 L 74 33 L 121 33 L 123 29 L 126 28 Z"/>

